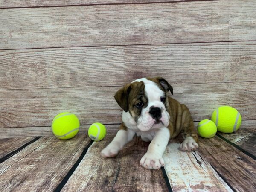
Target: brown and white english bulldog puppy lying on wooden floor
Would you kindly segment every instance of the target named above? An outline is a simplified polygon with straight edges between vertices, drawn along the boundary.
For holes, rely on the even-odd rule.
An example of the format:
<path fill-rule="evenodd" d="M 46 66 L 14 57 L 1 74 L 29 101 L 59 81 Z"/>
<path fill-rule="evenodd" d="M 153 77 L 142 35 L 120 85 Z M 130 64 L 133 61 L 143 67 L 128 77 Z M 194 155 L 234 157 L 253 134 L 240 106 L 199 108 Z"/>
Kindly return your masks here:
<path fill-rule="evenodd" d="M 168 141 L 180 133 L 184 137 L 180 150 L 198 148 L 189 109 L 168 97 L 169 91 L 173 94 L 172 86 L 162 77 L 137 79 L 118 90 L 115 99 L 123 109 L 122 125 L 113 141 L 102 150 L 102 157 L 116 156 L 135 134 L 143 141 L 151 141 L 140 160 L 146 169 L 164 166 L 163 153 Z"/>

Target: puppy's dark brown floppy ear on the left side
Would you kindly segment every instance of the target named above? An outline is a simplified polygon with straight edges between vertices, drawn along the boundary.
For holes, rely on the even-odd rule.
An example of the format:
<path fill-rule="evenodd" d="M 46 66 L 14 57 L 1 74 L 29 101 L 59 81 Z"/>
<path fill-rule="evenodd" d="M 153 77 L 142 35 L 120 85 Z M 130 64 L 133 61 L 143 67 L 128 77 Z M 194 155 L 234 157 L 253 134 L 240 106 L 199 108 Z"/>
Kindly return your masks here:
<path fill-rule="evenodd" d="M 129 110 L 128 98 L 129 98 L 130 91 L 131 91 L 131 84 L 127 84 L 121 89 L 119 89 L 115 94 L 116 102 L 125 112 Z"/>

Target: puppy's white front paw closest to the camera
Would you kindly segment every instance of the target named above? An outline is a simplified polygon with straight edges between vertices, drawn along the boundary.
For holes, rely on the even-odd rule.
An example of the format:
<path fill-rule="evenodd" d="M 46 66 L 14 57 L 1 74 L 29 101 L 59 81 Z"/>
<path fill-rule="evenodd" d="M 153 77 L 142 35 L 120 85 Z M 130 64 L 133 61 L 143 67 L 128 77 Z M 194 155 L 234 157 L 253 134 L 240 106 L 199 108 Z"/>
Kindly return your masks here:
<path fill-rule="evenodd" d="M 146 153 L 140 160 L 140 165 L 146 169 L 160 169 L 164 166 L 163 157 L 160 154 Z"/>

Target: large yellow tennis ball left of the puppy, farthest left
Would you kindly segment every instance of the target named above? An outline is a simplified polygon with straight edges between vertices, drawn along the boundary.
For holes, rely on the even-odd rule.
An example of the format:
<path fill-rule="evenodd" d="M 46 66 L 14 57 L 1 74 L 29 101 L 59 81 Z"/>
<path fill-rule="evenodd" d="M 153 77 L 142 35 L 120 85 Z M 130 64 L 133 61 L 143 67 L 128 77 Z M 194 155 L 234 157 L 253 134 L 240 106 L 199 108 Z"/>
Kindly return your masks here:
<path fill-rule="evenodd" d="M 62 140 L 74 137 L 79 131 L 80 123 L 76 115 L 68 112 L 60 113 L 52 121 L 52 133 Z"/>

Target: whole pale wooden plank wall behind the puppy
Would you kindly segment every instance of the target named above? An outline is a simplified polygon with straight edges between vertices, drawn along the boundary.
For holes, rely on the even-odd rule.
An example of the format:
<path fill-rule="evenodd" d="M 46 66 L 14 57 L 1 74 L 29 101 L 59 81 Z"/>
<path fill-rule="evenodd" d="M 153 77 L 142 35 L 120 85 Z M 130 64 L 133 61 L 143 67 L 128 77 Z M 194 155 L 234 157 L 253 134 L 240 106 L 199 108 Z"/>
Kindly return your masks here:
<path fill-rule="evenodd" d="M 145 76 L 166 78 L 195 121 L 219 105 L 256 120 L 253 0 L 0 5 L 0 137 L 50 135 L 63 111 L 82 134 L 95 121 L 116 128 L 114 93 Z"/>

